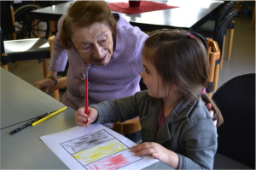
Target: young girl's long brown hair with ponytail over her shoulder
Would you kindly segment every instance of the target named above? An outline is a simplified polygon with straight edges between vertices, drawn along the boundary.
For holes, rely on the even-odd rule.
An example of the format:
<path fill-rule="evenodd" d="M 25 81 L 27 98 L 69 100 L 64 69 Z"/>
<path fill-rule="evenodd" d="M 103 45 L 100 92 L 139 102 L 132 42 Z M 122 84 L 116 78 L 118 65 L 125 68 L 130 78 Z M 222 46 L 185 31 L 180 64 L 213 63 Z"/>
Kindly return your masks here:
<path fill-rule="evenodd" d="M 196 101 L 209 80 L 207 49 L 201 40 L 187 31 L 159 30 L 149 35 L 143 50 L 154 49 L 153 57 L 147 57 L 162 78 L 163 86 L 173 83 L 185 101 Z M 213 120 L 218 125 L 224 122 L 217 105 L 207 94 L 202 94 L 206 103 L 212 104 Z"/>

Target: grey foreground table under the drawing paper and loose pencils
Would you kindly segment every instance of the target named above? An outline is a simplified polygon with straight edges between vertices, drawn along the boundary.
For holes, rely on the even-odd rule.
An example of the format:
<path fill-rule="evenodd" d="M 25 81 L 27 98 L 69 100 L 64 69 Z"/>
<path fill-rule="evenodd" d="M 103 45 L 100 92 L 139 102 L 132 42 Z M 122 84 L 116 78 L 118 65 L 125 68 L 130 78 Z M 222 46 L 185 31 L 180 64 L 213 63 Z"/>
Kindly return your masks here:
<path fill-rule="evenodd" d="M 71 108 L 35 127 L 9 133 L 32 117 L 64 105 L 0 67 L 1 72 L 1 169 L 68 169 L 39 137 L 77 126 Z M 16 124 L 22 122 L 20 124 Z M 16 125 L 15 125 L 16 124 Z M 159 161 L 146 169 L 168 169 Z M 172 168 L 171 168 L 172 169 Z"/>

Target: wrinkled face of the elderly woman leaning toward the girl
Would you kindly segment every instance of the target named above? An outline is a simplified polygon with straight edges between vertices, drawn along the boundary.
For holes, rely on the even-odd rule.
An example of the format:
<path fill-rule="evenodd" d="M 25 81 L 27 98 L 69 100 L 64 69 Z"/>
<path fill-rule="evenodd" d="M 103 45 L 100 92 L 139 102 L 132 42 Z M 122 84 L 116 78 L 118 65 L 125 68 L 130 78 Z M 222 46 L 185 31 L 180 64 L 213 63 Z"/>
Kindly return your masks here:
<path fill-rule="evenodd" d="M 107 65 L 113 55 L 112 31 L 103 23 L 75 29 L 72 41 L 86 64 Z"/>

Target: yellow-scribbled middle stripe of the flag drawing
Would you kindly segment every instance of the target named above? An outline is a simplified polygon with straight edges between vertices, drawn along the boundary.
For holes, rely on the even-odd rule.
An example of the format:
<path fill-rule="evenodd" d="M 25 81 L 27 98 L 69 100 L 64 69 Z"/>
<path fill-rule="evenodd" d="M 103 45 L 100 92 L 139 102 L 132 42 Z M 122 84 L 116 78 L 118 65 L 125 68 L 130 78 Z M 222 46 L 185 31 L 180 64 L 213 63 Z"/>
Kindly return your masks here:
<path fill-rule="evenodd" d="M 88 150 L 79 151 L 73 154 L 73 157 L 80 161 L 82 164 L 88 164 L 92 161 L 102 159 L 106 156 L 111 156 L 122 150 L 126 150 L 127 147 L 120 143 L 117 139 L 110 140 L 104 144 L 96 145 Z"/>

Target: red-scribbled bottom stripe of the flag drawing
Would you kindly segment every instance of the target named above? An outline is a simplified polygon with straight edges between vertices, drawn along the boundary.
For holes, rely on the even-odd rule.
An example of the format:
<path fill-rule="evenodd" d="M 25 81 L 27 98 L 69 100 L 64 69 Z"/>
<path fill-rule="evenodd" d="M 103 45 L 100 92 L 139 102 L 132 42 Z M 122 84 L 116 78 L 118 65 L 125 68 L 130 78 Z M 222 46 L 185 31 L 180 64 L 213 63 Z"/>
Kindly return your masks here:
<path fill-rule="evenodd" d="M 123 156 L 123 154 L 118 154 L 115 156 L 109 156 L 106 159 L 102 159 L 100 161 L 96 161 L 86 166 L 88 169 L 117 169 L 119 167 L 123 167 L 130 163 L 127 157 Z"/>

